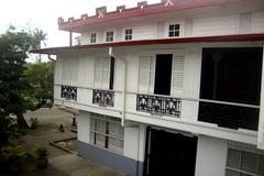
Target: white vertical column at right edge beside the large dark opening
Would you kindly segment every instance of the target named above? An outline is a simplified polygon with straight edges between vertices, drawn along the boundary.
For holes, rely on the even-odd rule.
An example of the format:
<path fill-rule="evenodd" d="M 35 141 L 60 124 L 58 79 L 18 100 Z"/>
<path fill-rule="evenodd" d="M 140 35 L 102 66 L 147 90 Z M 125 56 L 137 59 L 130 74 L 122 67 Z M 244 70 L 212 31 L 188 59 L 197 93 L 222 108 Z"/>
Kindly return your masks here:
<path fill-rule="evenodd" d="M 264 150 L 264 45 L 262 57 L 261 103 L 258 117 L 257 148 Z"/>

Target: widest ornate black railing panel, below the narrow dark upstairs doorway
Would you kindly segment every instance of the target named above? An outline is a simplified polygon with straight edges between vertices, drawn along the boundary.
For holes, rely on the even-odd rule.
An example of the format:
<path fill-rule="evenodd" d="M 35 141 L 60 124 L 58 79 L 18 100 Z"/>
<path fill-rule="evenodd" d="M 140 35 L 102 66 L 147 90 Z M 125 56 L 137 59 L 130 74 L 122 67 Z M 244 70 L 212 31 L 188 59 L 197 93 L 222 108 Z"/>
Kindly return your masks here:
<path fill-rule="evenodd" d="M 180 99 L 161 96 L 138 95 L 136 111 L 152 114 L 180 117 Z"/>

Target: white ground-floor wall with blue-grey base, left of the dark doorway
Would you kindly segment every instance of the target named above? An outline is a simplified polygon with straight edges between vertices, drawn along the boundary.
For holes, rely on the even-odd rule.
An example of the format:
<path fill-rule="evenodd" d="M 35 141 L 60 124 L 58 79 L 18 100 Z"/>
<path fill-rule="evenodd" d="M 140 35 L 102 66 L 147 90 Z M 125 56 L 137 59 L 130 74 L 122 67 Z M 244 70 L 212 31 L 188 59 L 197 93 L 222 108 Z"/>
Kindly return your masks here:
<path fill-rule="evenodd" d="M 99 116 L 100 122 L 105 119 L 108 119 L 107 116 Z M 141 176 L 143 173 L 143 161 L 144 161 L 144 148 L 145 148 L 145 125 L 134 122 L 125 123 L 123 129 L 123 134 L 120 136 L 123 139 L 122 147 L 118 151 L 111 148 L 106 148 L 103 145 L 97 145 L 94 143 L 95 138 L 92 135 L 94 130 L 91 123 L 95 121 L 94 113 L 86 111 L 80 111 L 77 122 L 78 122 L 78 152 L 81 156 L 85 156 L 89 160 L 98 162 L 102 165 L 112 167 L 117 170 L 127 173 L 131 176 Z M 116 119 L 117 122 L 120 122 L 120 119 Z M 103 128 L 100 124 L 98 125 L 99 134 Z M 110 124 L 111 127 L 111 124 Z M 121 127 L 121 124 L 120 124 Z M 95 128 L 95 127 L 94 127 Z M 105 129 L 103 129 L 105 130 Z M 111 135 L 109 135 L 111 139 Z M 111 142 L 110 142 L 111 143 Z M 109 145 L 110 145 L 109 143 Z"/>

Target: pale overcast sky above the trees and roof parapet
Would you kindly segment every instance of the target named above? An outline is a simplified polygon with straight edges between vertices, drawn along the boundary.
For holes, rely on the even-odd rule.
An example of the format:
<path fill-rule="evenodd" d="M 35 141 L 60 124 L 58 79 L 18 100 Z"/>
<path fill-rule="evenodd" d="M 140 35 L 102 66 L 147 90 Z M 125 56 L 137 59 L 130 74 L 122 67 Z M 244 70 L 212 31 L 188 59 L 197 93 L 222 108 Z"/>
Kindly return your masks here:
<path fill-rule="evenodd" d="M 78 19 L 81 14 L 94 15 L 96 8 L 107 6 L 113 11 L 118 6 L 135 7 L 142 0 L 2 0 L 0 7 L 0 33 L 12 24 L 16 28 L 40 28 L 47 33 L 47 47 L 68 45 L 68 33 L 58 31 L 57 19 Z M 148 0 L 156 3 L 161 0 Z"/>

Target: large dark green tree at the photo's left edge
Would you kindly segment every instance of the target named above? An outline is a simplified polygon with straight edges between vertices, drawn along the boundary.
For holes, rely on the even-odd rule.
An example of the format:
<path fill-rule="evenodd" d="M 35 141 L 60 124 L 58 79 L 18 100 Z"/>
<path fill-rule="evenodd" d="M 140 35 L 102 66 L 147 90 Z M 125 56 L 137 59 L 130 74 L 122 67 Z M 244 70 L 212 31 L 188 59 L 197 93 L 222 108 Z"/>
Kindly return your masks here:
<path fill-rule="evenodd" d="M 20 128 L 28 128 L 23 113 L 35 108 L 29 90 L 32 88 L 24 78 L 25 59 L 29 51 L 40 43 L 29 32 L 10 28 L 0 35 L 0 123 L 10 114 L 16 116 Z"/>

